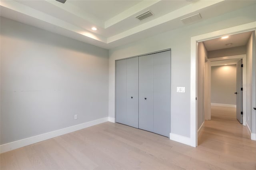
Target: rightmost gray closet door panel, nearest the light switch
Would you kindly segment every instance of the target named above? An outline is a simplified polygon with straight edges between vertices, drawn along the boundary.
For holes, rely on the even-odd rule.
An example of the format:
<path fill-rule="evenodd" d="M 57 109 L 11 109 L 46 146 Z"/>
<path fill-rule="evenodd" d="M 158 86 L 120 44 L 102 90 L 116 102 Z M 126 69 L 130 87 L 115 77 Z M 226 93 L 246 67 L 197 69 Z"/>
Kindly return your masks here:
<path fill-rule="evenodd" d="M 154 131 L 170 136 L 171 51 L 152 54 L 154 67 Z"/>

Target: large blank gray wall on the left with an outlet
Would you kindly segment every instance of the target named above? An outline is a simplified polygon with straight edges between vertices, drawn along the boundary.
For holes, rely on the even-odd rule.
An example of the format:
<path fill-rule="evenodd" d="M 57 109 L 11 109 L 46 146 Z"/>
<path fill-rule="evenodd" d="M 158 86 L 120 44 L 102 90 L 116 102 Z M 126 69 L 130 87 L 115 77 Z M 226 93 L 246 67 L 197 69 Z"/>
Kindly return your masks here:
<path fill-rule="evenodd" d="M 108 117 L 108 50 L 0 24 L 1 144 Z"/>

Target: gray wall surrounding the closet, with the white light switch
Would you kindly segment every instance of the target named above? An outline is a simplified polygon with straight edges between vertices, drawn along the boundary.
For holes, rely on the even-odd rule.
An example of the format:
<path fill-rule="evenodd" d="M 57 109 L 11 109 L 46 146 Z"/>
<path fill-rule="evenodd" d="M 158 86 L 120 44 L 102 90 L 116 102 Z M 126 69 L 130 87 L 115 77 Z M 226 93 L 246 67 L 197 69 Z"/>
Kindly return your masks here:
<path fill-rule="evenodd" d="M 109 116 L 115 117 L 115 60 L 172 48 L 171 132 L 190 137 L 190 43 L 191 37 L 256 21 L 256 6 L 246 7 L 203 22 L 110 49 Z M 186 93 L 177 93 L 185 87 Z"/>

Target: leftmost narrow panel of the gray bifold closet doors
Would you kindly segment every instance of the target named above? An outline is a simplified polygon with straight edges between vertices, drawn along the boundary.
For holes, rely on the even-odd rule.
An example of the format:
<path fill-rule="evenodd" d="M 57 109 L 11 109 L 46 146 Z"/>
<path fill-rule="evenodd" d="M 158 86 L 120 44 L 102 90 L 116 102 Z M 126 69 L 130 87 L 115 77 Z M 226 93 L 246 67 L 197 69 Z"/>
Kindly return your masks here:
<path fill-rule="evenodd" d="M 116 61 L 116 122 L 126 124 L 126 60 Z"/>

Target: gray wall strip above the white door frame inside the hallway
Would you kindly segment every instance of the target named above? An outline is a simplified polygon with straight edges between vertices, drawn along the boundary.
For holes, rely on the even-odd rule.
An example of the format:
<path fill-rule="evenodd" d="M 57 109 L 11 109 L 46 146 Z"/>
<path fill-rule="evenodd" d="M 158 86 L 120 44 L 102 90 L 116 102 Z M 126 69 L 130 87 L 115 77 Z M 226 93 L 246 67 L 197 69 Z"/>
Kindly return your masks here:
<path fill-rule="evenodd" d="M 208 51 L 208 58 L 246 54 L 246 45 Z"/>

